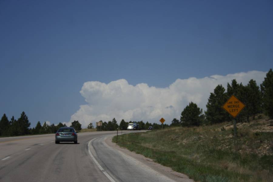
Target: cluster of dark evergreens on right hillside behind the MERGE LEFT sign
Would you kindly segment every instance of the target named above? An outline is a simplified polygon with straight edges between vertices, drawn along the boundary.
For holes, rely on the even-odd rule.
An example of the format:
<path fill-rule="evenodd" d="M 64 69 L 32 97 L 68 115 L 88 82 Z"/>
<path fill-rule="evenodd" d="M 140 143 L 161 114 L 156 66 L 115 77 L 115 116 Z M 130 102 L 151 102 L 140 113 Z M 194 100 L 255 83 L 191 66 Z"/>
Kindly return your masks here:
<path fill-rule="evenodd" d="M 273 118 L 272 69 L 266 74 L 260 87 L 253 79 L 247 85 L 239 84 L 233 79 L 231 84 L 227 83 L 227 90 L 222 85 L 217 85 L 208 98 L 205 114 L 202 114 L 203 111 L 197 104 L 190 102 L 182 111 L 180 120 L 174 118 L 170 126 L 200 126 L 231 121 L 233 117 L 223 109 L 223 105 L 232 95 L 245 104 L 245 108 L 236 117 L 238 122 L 249 122 L 249 118 L 255 119 L 259 113 Z"/>

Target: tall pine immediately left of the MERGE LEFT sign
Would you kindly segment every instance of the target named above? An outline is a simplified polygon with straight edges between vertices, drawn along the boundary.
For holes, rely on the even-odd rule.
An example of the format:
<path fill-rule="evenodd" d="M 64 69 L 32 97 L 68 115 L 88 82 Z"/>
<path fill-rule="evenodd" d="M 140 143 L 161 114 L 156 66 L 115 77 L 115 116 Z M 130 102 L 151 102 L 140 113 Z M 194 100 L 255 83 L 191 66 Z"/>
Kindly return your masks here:
<path fill-rule="evenodd" d="M 227 99 L 224 87 L 222 85 L 216 86 L 206 105 L 207 111 L 205 111 L 205 114 L 208 123 L 214 124 L 229 120 L 228 113 L 223 109 Z"/>

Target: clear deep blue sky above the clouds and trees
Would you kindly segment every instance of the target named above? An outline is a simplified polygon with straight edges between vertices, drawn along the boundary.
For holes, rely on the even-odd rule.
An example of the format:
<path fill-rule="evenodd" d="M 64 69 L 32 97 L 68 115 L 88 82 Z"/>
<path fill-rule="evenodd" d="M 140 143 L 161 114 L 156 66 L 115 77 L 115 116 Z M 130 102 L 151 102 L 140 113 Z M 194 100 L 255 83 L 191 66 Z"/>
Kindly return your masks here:
<path fill-rule="evenodd" d="M 79 91 L 88 81 L 166 88 L 267 72 L 272 9 L 272 1 L 2 0 L 0 114 L 25 111 L 32 127 L 69 122 L 86 104 Z"/>

